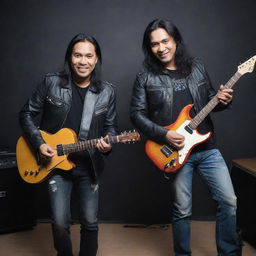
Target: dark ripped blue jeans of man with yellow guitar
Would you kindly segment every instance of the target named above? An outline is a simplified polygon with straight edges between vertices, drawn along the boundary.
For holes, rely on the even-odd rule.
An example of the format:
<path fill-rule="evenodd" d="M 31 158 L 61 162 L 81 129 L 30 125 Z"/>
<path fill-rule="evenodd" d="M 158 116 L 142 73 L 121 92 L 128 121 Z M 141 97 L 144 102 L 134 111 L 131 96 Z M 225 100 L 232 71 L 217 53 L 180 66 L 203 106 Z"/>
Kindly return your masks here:
<path fill-rule="evenodd" d="M 98 185 L 89 175 L 55 174 L 49 179 L 48 191 L 52 211 L 54 247 L 58 256 L 72 256 L 70 239 L 71 192 L 76 190 L 81 224 L 79 256 L 95 256 L 98 248 Z"/>

